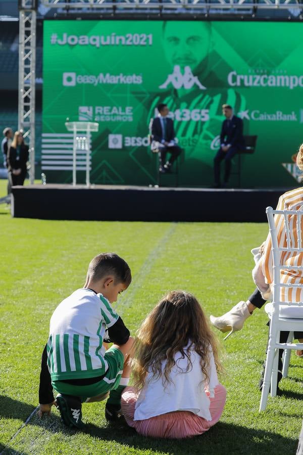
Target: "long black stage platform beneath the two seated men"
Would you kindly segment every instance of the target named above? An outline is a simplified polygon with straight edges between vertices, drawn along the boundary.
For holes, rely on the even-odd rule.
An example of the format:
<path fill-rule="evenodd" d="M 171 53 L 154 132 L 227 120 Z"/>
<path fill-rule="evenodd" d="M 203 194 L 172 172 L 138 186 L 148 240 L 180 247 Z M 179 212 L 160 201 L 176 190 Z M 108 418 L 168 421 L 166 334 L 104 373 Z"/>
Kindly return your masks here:
<path fill-rule="evenodd" d="M 266 222 L 287 189 L 148 188 L 96 185 L 13 187 L 12 216 L 121 221 Z"/>

